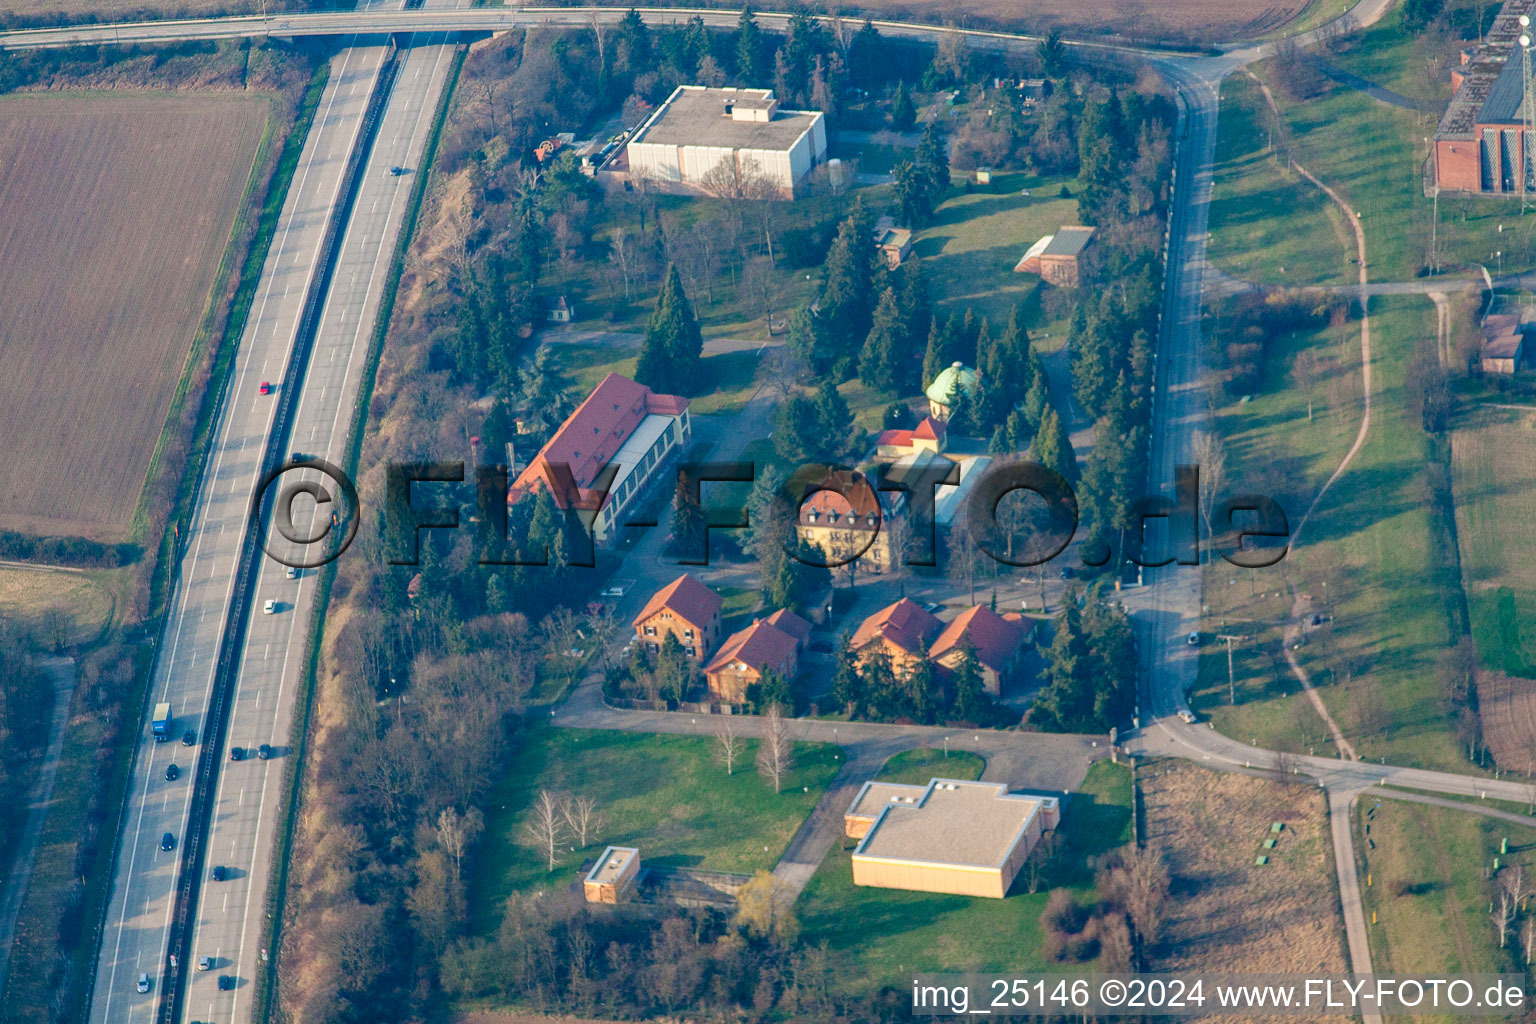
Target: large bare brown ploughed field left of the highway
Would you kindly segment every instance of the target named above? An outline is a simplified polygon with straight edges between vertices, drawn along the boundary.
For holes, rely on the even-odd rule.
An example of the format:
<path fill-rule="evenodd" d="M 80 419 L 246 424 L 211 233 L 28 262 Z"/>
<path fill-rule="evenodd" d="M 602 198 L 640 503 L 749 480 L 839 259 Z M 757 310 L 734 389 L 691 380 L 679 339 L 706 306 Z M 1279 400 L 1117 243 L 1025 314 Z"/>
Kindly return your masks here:
<path fill-rule="evenodd" d="M 270 111 L 0 100 L 0 528 L 126 536 Z"/>

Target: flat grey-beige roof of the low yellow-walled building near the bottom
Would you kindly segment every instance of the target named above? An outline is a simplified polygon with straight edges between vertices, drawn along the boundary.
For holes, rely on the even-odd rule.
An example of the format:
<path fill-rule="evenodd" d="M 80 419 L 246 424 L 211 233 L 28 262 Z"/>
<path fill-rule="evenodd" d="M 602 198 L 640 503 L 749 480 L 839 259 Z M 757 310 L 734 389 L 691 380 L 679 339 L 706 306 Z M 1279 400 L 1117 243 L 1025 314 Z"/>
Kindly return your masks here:
<path fill-rule="evenodd" d="M 1040 804 L 1003 783 L 935 778 L 917 803 L 888 803 L 854 857 L 998 867 Z"/>

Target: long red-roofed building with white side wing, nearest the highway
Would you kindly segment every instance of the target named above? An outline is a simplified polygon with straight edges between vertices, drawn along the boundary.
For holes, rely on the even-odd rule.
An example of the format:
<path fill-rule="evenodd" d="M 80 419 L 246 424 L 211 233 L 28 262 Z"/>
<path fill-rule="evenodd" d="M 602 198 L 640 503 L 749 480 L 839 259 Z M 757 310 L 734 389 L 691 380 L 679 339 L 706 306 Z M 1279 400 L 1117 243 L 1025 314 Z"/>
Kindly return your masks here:
<path fill-rule="evenodd" d="M 691 436 L 688 399 L 610 373 L 518 474 L 507 502 L 542 487 L 561 508 L 596 513 L 593 537 L 602 543 Z M 608 465 L 617 474 L 604 494 L 594 485 Z"/>

